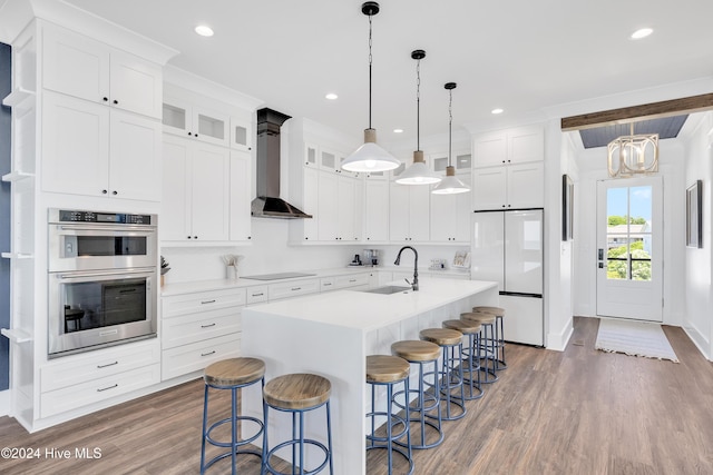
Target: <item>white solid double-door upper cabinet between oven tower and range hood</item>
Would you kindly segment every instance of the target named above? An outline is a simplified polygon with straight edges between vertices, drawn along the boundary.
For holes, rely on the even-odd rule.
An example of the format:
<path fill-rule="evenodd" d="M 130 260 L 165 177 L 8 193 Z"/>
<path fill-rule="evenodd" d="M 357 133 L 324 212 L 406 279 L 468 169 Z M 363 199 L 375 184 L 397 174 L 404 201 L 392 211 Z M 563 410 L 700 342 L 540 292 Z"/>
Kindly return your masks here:
<path fill-rule="evenodd" d="M 165 135 L 162 240 L 227 241 L 229 179 L 229 149 Z"/>

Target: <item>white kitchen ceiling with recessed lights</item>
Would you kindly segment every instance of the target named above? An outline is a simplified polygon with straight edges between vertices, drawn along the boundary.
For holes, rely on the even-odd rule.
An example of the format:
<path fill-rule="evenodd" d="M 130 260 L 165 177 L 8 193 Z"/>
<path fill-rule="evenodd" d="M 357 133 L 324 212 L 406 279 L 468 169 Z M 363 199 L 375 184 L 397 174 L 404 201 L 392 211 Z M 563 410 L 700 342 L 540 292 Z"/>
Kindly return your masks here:
<path fill-rule="evenodd" d="M 361 140 L 368 126 L 362 0 L 66 0 L 180 51 L 170 60 L 266 107 Z M 373 118 L 380 141 L 421 137 L 545 107 L 713 76 L 710 0 L 382 0 L 373 17 Z M 198 23 L 212 38 L 193 32 Z M 634 41 L 642 27 L 654 33 Z M 324 99 L 339 95 L 336 101 Z M 504 115 L 504 116 L 505 116 Z M 394 128 L 404 129 L 394 136 Z"/>

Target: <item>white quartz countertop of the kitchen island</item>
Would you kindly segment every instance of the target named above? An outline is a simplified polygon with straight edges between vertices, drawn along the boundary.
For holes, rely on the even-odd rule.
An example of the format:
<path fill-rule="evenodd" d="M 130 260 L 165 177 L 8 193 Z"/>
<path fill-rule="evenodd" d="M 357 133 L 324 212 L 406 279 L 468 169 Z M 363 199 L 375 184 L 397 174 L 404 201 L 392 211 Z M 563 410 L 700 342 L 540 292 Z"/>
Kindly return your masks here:
<path fill-rule="evenodd" d="M 279 315 L 369 331 L 497 287 L 495 281 L 447 278 L 423 278 L 419 285 L 419 291 L 409 289 L 390 295 L 348 289 L 314 294 L 255 305 L 246 308 L 245 314 Z"/>

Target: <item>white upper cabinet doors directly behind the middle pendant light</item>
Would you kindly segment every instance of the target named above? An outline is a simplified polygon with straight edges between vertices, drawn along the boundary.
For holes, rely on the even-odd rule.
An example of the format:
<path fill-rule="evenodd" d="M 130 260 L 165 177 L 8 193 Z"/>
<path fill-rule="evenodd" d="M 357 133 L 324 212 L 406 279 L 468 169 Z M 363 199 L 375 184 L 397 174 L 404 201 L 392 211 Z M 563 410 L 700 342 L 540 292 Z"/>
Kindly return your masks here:
<path fill-rule="evenodd" d="M 430 186 L 390 184 L 389 237 L 391 243 L 428 241 Z"/>

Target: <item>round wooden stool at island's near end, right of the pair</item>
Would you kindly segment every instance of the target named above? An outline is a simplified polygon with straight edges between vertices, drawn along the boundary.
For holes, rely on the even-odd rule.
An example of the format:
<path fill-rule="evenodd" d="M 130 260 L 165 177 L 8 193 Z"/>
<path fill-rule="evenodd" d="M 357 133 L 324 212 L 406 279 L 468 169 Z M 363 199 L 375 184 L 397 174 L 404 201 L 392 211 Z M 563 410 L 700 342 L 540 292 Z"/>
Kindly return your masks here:
<path fill-rule="evenodd" d="M 270 459 L 273 455 L 284 458 L 282 455 L 277 455 L 276 452 L 285 447 L 292 448 L 293 474 L 316 474 L 326 467 L 328 464 L 330 466 L 330 475 L 334 473 L 332 464 L 332 420 L 330 415 L 331 393 L 332 384 L 329 379 L 309 373 L 277 376 L 265 385 L 263 388 L 265 434 L 263 436 L 262 474 L 282 474 L 282 472 L 277 472 L 272 466 Z M 322 406 L 326 407 L 326 445 L 319 441 L 304 437 L 304 414 Z M 270 408 L 292 414 L 292 438 L 275 445 L 273 448 L 270 448 L 267 441 L 267 416 Z M 305 445 L 316 447 L 324 453 L 324 461 L 315 468 L 305 468 Z M 296 468 L 297 466 L 299 469 Z"/>

